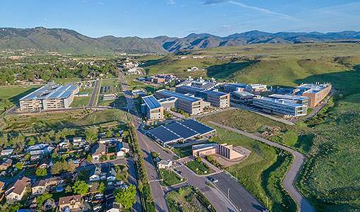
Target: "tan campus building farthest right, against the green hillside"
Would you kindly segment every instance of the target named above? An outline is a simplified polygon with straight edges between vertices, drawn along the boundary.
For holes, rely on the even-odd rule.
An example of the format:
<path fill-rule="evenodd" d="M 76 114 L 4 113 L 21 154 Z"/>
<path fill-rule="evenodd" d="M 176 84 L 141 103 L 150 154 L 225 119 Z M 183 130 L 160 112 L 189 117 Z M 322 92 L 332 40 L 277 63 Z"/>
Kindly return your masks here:
<path fill-rule="evenodd" d="M 318 103 L 320 103 L 330 93 L 332 86 L 330 83 L 317 83 L 302 84 L 296 88 L 300 90 L 300 95 L 310 98 L 310 107 L 316 107 L 316 105 L 318 105 Z"/>

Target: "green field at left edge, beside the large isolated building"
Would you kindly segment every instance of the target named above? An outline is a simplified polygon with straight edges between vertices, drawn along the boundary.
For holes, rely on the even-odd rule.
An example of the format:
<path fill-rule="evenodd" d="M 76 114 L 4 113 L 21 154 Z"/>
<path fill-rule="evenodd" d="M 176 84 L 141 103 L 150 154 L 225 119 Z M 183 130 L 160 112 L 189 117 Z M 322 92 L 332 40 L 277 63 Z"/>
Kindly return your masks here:
<path fill-rule="evenodd" d="M 1 86 L 0 87 L 0 110 L 18 104 L 19 99 L 28 95 L 40 86 Z"/>

